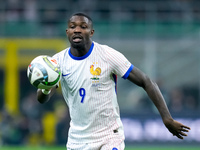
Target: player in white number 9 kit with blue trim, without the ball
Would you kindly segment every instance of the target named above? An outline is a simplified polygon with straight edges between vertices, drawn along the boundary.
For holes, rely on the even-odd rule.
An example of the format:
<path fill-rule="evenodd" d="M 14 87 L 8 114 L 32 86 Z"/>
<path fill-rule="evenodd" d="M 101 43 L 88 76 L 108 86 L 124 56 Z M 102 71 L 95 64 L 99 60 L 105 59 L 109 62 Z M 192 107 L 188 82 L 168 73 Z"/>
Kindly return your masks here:
<path fill-rule="evenodd" d="M 120 52 L 92 41 L 92 19 L 76 13 L 68 20 L 66 34 L 70 47 L 53 57 L 61 67 L 61 88 L 69 107 L 71 122 L 68 150 L 123 150 L 124 131 L 116 96 L 116 76 L 142 87 L 157 107 L 167 129 L 180 139 L 189 127 L 172 118 L 157 86 Z M 55 92 L 37 91 L 40 103 Z"/>

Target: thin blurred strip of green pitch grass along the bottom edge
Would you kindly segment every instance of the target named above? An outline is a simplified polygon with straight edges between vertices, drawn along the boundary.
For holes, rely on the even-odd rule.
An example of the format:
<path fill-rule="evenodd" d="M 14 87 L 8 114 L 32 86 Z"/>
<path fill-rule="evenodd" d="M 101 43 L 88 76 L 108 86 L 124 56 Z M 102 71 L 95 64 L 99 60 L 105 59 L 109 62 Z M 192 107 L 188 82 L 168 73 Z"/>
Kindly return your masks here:
<path fill-rule="evenodd" d="M 8 146 L 5 146 L 5 147 L 1 147 L 0 146 L 0 150 L 66 150 L 65 147 L 51 147 L 51 146 L 48 146 L 48 147 L 35 147 L 35 146 L 23 146 L 23 147 L 15 147 L 15 146 L 12 146 L 12 147 L 8 147 Z M 127 146 L 125 148 L 125 150 L 200 150 L 200 147 L 192 147 L 192 146 L 182 146 L 182 147 L 179 147 L 179 146 L 166 146 L 165 147 L 159 147 L 159 146 L 137 146 L 137 147 L 130 147 L 130 146 Z"/>

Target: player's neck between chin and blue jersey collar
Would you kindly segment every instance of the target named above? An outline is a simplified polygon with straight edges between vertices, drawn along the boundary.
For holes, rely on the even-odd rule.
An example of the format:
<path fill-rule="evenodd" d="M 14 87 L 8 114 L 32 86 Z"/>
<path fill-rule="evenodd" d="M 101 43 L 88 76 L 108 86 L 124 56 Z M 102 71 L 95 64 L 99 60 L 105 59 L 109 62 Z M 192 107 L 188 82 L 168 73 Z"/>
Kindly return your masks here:
<path fill-rule="evenodd" d="M 90 50 L 91 45 L 92 41 L 86 43 L 84 46 L 77 46 L 77 47 L 71 46 L 70 52 L 75 57 L 82 57 L 85 54 L 87 54 L 87 52 Z"/>

